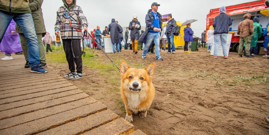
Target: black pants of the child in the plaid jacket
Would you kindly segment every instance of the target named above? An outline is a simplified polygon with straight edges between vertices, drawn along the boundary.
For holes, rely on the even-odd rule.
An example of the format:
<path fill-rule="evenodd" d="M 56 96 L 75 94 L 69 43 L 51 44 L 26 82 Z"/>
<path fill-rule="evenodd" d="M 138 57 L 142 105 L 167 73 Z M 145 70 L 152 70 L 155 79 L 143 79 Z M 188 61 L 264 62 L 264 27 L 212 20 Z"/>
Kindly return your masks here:
<path fill-rule="evenodd" d="M 75 64 L 77 73 L 82 73 L 82 54 L 81 46 L 80 46 L 80 39 L 73 39 L 73 51 L 75 57 L 73 57 L 72 49 L 71 49 L 71 39 L 62 39 L 63 40 L 63 49 L 66 55 L 66 60 L 68 62 L 69 70 L 71 72 L 75 72 Z"/>

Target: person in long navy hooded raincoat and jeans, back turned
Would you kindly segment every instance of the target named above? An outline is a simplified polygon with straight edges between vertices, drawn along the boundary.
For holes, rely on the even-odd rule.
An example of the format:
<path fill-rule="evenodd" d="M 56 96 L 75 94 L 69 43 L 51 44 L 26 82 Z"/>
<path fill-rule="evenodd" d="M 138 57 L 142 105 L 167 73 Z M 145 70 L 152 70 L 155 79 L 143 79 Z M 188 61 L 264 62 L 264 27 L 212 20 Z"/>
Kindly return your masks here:
<path fill-rule="evenodd" d="M 119 52 L 119 33 L 122 32 L 122 29 L 120 29 L 119 25 L 116 23 L 115 19 L 111 20 L 111 23 L 108 26 L 108 32 L 110 32 L 110 38 L 111 38 L 111 43 L 113 46 L 113 53 L 115 54 L 116 52 L 116 47 L 117 46 L 117 51 Z"/>

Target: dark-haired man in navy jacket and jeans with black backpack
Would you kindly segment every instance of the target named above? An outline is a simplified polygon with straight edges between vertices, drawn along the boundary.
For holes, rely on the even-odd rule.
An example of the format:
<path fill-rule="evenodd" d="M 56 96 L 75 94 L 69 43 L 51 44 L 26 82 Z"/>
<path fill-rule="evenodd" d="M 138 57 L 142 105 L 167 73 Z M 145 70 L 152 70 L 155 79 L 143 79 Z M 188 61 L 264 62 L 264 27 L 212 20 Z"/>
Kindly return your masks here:
<path fill-rule="evenodd" d="M 176 50 L 175 50 L 175 43 L 174 43 L 174 38 L 175 38 L 175 31 L 177 28 L 177 22 L 175 21 L 175 19 L 172 19 L 172 14 L 169 14 L 167 16 L 167 19 L 169 20 L 169 22 L 167 23 L 166 26 L 166 32 L 165 35 L 167 36 L 167 43 L 168 43 L 168 52 L 167 53 L 171 53 L 171 44 L 172 44 L 172 53 L 175 54 Z"/>

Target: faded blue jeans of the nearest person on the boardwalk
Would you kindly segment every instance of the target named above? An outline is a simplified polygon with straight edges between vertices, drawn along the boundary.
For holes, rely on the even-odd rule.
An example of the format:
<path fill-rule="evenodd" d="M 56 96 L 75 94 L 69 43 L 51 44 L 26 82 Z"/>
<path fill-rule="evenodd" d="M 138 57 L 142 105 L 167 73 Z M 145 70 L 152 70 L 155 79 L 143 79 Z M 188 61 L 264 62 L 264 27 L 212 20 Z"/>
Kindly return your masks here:
<path fill-rule="evenodd" d="M 22 28 L 23 34 L 26 38 L 29 65 L 31 67 L 35 67 L 39 64 L 39 44 L 31 13 L 8 13 L 0 10 L 0 18 L 0 43 L 9 23 L 11 22 L 11 19 L 13 19 Z"/>

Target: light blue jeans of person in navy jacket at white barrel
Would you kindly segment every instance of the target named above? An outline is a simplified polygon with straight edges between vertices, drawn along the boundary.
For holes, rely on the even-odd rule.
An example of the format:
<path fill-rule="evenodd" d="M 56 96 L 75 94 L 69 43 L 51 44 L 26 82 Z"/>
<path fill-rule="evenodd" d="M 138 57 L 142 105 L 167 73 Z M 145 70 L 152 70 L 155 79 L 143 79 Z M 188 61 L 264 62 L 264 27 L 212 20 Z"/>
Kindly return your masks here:
<path fill-rule="evenodd" d="M 214 35 L 214 56 L 218 56 L 219 41 L 221 41 L 223 55 L 227 55 L 227 35 L 226 33 Z"/>

